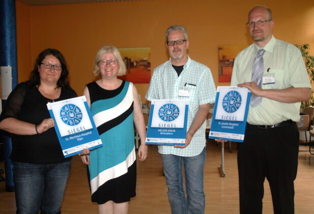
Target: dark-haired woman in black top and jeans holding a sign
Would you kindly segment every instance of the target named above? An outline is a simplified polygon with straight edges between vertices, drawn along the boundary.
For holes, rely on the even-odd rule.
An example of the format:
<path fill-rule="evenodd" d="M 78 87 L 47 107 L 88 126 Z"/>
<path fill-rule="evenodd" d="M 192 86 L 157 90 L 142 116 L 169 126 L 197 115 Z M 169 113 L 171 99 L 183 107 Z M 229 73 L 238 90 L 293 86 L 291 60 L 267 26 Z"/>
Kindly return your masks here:
<path fill-rule="evenodd" d="M 11 133 L 16 213 L 60 213 L 70 172 L 50 118 L 47 103 L 77 97 L 68 81 L 64 56 L 42 51 L 27 82 L 9 95 L 0 129 Z"/>

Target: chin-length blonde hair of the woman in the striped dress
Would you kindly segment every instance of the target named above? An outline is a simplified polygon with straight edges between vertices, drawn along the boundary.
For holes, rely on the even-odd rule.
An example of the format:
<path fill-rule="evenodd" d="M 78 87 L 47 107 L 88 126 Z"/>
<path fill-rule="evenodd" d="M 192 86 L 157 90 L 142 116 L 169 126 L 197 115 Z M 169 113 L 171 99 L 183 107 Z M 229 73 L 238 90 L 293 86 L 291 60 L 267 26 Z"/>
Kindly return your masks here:
<path fill-rule="evenodd" d="M 99 51 L 96 54 L 95 61 L 94 61 L 94 70 L 92 71 L 93 75 L 95 76 L 100 76 L 100 67 L 99 67 L 99 61 L 103 57 L 104 54 L 106 53 L 112 53 L 115 58 L 118 60 L 118 65 L 119 65 L 119 71 L 117 76 L 123 76 L 127 73 L 127 69 L 125 68 L 125 64 L 123 62 L 123 59 L 120 55 L 119 50 L 111 45 L 106 45 L 99 49 Z"/>

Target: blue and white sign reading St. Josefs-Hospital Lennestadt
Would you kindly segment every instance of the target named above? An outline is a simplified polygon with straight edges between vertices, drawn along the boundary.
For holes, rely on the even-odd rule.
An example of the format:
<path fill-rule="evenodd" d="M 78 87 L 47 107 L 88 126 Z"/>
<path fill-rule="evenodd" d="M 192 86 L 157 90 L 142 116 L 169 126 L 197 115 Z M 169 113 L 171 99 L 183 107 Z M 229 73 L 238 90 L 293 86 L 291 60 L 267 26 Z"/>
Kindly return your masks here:
<path fill-rule="evenodd" d="M 244 87 L 217 87 L 208 138 L 243 142 L 250 95 Z"/>

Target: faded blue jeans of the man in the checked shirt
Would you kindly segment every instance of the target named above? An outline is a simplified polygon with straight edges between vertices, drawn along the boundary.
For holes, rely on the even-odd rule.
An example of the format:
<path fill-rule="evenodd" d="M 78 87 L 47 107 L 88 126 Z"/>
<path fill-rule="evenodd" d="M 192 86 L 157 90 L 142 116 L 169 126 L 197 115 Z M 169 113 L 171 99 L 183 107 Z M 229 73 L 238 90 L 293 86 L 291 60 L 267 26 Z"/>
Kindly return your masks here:
<path fill-rule="evenodd" d="M 162 155 L 168 187 L 168 198 L 173 214 L 204 213 L 205 194 L 203 185 L 206 148 L 194 157 Z M 183 187 L 185 175 L 186 196 Z"/>

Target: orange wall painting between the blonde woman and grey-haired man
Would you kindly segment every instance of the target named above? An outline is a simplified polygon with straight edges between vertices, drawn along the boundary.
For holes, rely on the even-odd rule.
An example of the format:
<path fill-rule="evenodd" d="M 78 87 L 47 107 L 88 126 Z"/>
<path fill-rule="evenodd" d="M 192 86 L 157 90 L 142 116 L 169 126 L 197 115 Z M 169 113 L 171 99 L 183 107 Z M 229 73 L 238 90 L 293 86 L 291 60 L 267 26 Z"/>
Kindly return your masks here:
<path fill-rule="evenodd" d="M 118 77 L 133 83 L 149 83 L 150 48 L 118 48 L 127 74 Z"/>

